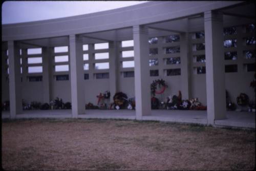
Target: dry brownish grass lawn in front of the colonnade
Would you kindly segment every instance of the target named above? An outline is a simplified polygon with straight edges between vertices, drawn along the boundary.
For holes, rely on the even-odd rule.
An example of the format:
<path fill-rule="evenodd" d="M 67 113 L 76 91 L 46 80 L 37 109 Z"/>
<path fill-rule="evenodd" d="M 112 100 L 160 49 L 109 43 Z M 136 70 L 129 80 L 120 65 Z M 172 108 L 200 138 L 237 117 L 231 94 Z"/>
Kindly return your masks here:
<path fill-rule="evenodd" d="M 103 119 L 2 121 L 6 170 L 252 170 L 255 131 Z"/>

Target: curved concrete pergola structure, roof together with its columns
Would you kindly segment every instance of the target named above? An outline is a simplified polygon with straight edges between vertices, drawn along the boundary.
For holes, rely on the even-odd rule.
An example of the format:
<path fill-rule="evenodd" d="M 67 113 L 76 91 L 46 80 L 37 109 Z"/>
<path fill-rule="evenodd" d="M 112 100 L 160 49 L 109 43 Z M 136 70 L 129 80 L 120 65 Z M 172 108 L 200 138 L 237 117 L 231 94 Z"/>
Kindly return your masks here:
<path fill-rule="evenodd" d="M 72 117 L 77 118 L 86 113 L 82 45 L 89 45 L 90 58 L 93 44 L 109 42 L 109 88 L 113 97 L 119 91 L 120 41 L 133 39 L 136 119 L 140 120 L 151 115 L 150 67 L 145 57 L 148 38 L 180 35 L 180 89 L 182 97 L 188 99 L 191 98 L 189 33 L 204 30 L 207 124 L 213 125 L 215 120 L 226 118 L 223 28 L 254 23 L 254 13 L 254 6 L 244 2 L 148 2 L 86 15 L 2 25 L 2 49 L 9 53 L 10 117 L 16 118 L 23 110 L 19 49 L 26 55 L 28 48 L 42 48 L 43 101 L 49 103 L 53 99 L 50 89 L 53 47 L 69 46 Z M 89 61 L 89 66 L 92 65 Z M 162 72 L 159 70 L 159 75 Z M 89 76 L 93 77 L 90 71 Z"/>

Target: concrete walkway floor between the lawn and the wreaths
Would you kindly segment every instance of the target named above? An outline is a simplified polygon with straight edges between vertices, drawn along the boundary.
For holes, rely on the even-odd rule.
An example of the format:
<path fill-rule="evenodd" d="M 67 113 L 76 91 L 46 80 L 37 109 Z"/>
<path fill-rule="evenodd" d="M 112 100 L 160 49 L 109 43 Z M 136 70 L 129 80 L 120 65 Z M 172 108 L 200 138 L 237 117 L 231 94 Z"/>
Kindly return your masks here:
<path fill-rule="evenodd" d="M 9 118 L 9 112 L 2 111 L 2 119 Z M 21 118 L 72 118 L 71 110 L 31 110 L 23 111 L 16 116 Z M 101 119 L 136 119 L 134 110 L 87 110 L 78 118 Z M 206 111 L 152 110 L 152 115 L 143 116 L 142 120 L 157 120 L 164 122 L 207 124 Z M 227 111 L 227 119 L 216 120 L 215 126 L 244 127 L 255 129 L 254 112 Z"/>

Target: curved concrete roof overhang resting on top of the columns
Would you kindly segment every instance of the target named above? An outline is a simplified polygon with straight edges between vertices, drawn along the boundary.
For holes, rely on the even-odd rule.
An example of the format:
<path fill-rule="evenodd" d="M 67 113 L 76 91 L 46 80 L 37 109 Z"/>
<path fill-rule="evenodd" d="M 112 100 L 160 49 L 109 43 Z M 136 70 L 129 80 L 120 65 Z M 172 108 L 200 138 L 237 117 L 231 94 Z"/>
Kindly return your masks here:
<path fill-rule="evenodd" d="M 84 44 L 133 39 L 132 26 L 144 25 L 149 36 L 204 30 L 205 11 L 224 14 L 224 27 L 254 23 L 254 5 L 243 2 L 149 2 L 66 18 L 2 26 L 2 41 L 19 40 L 23 48 L 69 45 L 70 34 Z"/>

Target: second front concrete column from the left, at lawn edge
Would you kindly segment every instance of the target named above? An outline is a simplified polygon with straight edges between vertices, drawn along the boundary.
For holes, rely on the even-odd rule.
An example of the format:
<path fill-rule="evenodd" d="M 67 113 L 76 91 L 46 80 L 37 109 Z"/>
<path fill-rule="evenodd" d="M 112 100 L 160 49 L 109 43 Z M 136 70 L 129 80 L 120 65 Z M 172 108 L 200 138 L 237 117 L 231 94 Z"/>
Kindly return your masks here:
<path fill-rule="evenodd" d="M 85 113 L 85 97 L 83 83 L 82 38 L 78 35 L 69 35 L 70 46 L 70 77 L 72 117 Z"/>

